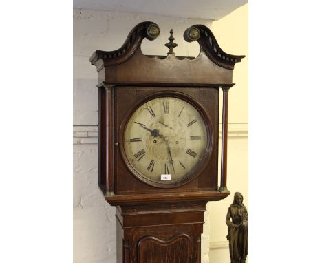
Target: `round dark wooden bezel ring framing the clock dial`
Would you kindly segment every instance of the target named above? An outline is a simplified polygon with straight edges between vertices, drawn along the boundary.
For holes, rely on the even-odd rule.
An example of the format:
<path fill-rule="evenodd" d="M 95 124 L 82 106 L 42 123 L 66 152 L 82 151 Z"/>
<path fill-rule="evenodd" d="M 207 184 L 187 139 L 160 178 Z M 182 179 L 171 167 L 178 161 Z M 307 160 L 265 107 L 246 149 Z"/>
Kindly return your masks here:
<path fill-rule="evenodd" d="M 189 173 L 186 174 L 183 178 L 180 178 L 175 181 L 162 181 L 158 182 L 151 178 L 147 178 L 147 176 L 142 175 L 136 169 L 131 165 L 131 162 L 128 160 L 127 155 L 125 154 L 125 130 L 127 127 L 127 123 L 131 119 L 131 116 L 138 110 L 139 107 L 144 105 L 144 103 L 147 103 L 148 101 L 151 101 L 155 98 L 163 98 L 163 97 L 173 97 L 173 98 L 179 98 L 182 101 L 185 101 L 186 103 L 191 104 L 197 112 L 202 117 L 202 120 L 204 121 L 204 125 L 206 127 L 206 136 L 207 136 L 207 144 L 206 149 L 204 152 L 204 156 L 200 160 L 200 162 L 191 170 Z M 119 146 L 120 146 L 120 155 L 122 156 L 122 160 L 125 162 L 125 166 L 127 169 L 133 174 L 133 176 L 136 176 L 139 180 L 146 183 L 147 185 L 151 185 L 153 187 L 158 188 L 174 188 L 174 187 L 180 187 L 182 185 L 185 185 L 188 182 L 191 182 L 191 180 L 195 179 L 197 176 L 202 173 L 204 168 L 206 167 L 206 163 L 208 163 L 208 160 L 211 156 L 212 150 L 213 150 L 213 128 L 211 126 L 211 121 L 206 113 L 206 109 L 195 101 L 194 98 L 191 98 L 191 96 L 188 96 L 186 94 L 183 94 L 182 92 L 174 92 L 174 91 L 166 91 L 166 92 L 155 92 L 153 94 L 150 94 L 149 96 L 146 96 L 142 98 L 140 101 L 138 101 L 132 108 L 129 110 L 129 112 L 126 114 L 125 119 L 122 121 L 120 125 L 120 131 L 119 131 Z"/>

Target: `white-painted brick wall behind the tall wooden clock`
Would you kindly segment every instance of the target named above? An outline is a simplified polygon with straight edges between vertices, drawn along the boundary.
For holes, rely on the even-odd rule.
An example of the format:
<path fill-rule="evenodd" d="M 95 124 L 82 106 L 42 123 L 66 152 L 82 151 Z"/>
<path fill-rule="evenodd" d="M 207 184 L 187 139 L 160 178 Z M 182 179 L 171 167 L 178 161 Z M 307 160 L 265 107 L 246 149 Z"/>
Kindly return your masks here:
<path fill-rule="evenodd" d="M 143 41 L 143 53 L 166 55 L 164 43 L 173 28 L 177 56 L 197 56 L 200 51 L 197 43 L 184 41 L 186 28 L 197 23 L 210 28 L 212 23 L 203 19 L 74 10 L 74 263 L 116 262 L 115 208 L 105 202 L 97 186 L 97 75 L 88 59 L 95 50 L 120 48 L 129 31 L 142 21 L 153 21 L 161 30 L 155 41 Z M 202 262 L 208 263 L 208 213 L 205 220 Z"/>

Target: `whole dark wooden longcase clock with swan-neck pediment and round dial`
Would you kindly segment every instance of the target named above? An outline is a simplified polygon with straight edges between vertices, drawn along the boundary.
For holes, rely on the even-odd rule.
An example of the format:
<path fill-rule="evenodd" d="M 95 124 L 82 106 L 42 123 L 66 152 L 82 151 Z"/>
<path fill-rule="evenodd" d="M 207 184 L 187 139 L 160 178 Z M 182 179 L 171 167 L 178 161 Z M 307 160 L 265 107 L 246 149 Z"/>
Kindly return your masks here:
<path fill-rule="evenodd" d="M 204 25 L 184 32 L 200 54 L 175 56 L 170 33 L 167 56 L 142 54 L 142 40 L 160 34 L 143 22 L 121 48 L 89 59 L 98 72 L 98 182 L 116 206 L 118 263 L 200 262 L 206 203 L 229 195 L 228 90 L 244 56 L 226 54 Z"/>

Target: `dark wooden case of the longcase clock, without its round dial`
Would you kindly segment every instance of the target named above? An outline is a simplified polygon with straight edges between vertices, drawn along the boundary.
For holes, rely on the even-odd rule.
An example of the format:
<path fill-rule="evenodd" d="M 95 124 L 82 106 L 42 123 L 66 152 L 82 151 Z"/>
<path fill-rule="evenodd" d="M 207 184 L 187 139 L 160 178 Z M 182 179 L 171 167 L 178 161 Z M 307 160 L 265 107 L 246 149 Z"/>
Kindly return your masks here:
<path fill-rule="evenodd" d="M 200 262 L 200 235 L 206 203 L 229 195 L 226 186 L 228 90 L 233 68 L 244 56 L 226 54 L 211 30 L 193 25 L 186 41 L 197 41 L 197 58 L 145 56 L 144 38 L 160 34 L 142 22 L 121 48 L 96 50 L 89 61 L 98 72 L 98 183 L 116 206 L 118 263 Z M 172 47 L 173 45 L 171 45 Z M 223 91 L 222 171 L 218 185 L 219 90 Z M 153 187 L 133 176 L 121 156 L 122 125 L 134 105 L 153 94 L 175 92 L 198 101 L 209 119 L 211 156 L 197 176 L 173 188 Z"/>

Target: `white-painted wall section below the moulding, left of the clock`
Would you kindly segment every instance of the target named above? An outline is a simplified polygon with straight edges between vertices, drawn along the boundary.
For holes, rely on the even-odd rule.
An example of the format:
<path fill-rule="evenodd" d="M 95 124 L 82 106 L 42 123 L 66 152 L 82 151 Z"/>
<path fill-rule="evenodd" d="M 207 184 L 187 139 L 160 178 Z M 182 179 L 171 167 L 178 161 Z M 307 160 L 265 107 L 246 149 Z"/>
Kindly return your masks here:
<path fill-rule="evenodd" d="M 74 262 L 115 262 L 115 209 L 97 187 L 97 144 L 74 145 Z"/>

